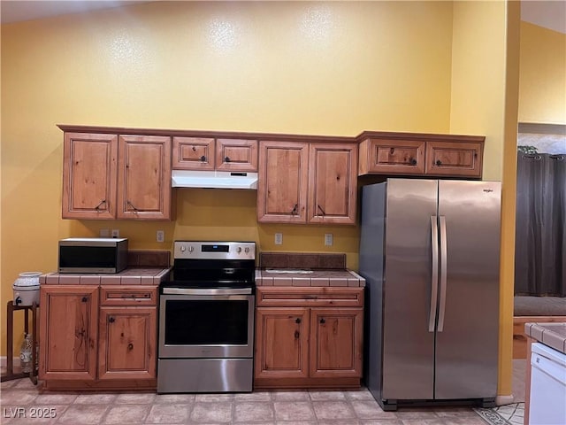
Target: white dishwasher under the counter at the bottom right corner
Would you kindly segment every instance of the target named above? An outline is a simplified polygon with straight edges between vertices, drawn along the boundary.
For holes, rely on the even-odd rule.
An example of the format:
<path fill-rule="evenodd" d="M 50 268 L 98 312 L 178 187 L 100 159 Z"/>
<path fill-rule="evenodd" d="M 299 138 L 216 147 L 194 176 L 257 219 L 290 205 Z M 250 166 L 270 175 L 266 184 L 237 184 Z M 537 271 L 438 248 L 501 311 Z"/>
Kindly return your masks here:
<path fill-rule="evenodd" d="M 532 344 L 530 425 L 566 424 L 566 354 Z"/>

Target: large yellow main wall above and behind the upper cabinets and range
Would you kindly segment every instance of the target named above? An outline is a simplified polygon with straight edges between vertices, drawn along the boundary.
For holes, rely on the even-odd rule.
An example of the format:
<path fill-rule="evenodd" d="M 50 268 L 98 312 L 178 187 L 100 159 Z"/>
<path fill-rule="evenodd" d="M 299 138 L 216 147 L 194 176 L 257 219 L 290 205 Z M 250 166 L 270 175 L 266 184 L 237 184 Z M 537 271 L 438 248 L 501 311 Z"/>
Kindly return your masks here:
<path fill-rule="evenodd" d="M 357 268 L 359 228 L 258 226 L 251 191 L 177 189 L 174 222 L 61 220 L 57 123 L 487 135 L 486 178 L 501 178 L 505 6 L 477 3 L 485 2 L 155 2 L 3 25 L 2 303 L 19 272 L 56 268 L 58 239 L 100 228 L 119 228 L 133 249 L 253 239 L 263 251 L 346 252 Z M 483 63 L 482 73 L 463 66 L 469 42 L 494 75 Z M 165 243 L 155 242 L 157 229 Z M 283 245 L 273 244 L 276 231 Z M 1 341 L 5 355 L 4 324 Z"/>

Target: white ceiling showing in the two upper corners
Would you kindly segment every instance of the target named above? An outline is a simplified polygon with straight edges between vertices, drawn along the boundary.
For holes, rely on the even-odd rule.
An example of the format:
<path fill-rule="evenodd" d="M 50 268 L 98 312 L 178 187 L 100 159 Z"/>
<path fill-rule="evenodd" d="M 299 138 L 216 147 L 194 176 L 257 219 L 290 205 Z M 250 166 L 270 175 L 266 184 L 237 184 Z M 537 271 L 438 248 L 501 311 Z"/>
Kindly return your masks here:
<path fill-rule="evenodd" d="M 4 24 L 149 1 L 151 0 L 0 0 L 0 20 Z M 521 19 L 566 34 L 566 0 L 522 1 Z"/>

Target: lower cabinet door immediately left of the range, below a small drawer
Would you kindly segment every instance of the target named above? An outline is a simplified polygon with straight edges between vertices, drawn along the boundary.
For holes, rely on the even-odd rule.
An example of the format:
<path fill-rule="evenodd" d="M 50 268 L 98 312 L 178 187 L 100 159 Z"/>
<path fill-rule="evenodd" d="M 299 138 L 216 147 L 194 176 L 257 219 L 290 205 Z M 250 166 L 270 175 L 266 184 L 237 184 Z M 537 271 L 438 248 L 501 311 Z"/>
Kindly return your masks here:
<path fill-rule="evenodd" d="M 155 378 L 157 307 L 101 307 L 98 379 Z"/>

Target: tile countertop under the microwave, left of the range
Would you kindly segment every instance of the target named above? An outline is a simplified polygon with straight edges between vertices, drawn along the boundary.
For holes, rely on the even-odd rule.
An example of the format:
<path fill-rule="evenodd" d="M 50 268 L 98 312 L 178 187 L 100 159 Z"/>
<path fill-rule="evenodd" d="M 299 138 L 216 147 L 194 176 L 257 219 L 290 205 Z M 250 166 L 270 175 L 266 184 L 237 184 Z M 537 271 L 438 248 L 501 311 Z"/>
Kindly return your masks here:
<path fill-rule="evenodd" d="M 116 274 L 48 273 L 39 277 L 46 285 L 158 285 L 167 280 L 171 267 L 128 267 Z"/>

